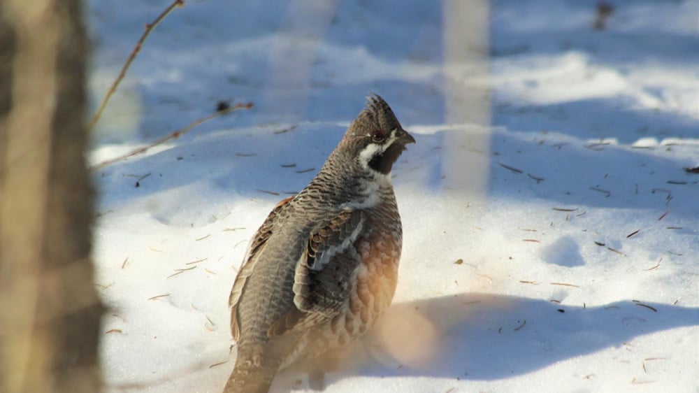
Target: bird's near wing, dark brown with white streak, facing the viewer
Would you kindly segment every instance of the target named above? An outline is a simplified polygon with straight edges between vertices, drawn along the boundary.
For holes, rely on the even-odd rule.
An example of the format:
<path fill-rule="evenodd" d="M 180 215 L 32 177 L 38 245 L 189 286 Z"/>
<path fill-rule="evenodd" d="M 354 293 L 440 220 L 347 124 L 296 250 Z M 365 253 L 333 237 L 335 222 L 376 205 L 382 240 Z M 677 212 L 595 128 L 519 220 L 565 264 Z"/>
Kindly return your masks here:
<path fill-rule="evenodd" d="M 366 220 L 362 210 L 343 210 L 310 234 L 296 263 L 295 307 L 272 324 L 268 336 L 308 329 L 340 313 L 349 296 L 349 280 L 360 262 L 354 243 Z"/>

